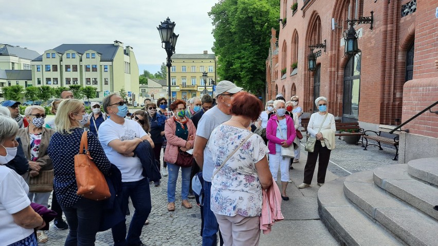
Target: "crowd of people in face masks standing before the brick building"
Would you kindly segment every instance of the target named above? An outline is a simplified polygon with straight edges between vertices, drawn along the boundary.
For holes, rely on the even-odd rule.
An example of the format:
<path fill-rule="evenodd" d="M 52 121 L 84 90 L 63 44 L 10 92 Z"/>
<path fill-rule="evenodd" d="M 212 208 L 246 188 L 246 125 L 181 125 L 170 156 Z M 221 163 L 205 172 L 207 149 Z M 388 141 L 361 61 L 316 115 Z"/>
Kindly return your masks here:
<path fill-rule="evenodd" d="M 159 177 L 169 176 L 168 211 L 175 211 L 179 197 L 182 207 L 193 207 L 190 199 L 200 195 L 193 182 L 200 177 L 203 245 L 216 245 L 217 234 L 221 245 L 258 245 L 266 226 L 261 217 L 267 209 L 264 196 L 277 199 L 276 204 L 289 200 L 289 170 L 300 159 L 297 131 L 303 109 L 298 104 L 298 96 L 286 101 L 278 94 L 263 107 L 230 81 L 217 84 L 214 99 L 209 94 L 171 104 L 166 98 L 147 99 L 144 108 L 131 114 L 117 93 L 86 109 L 71 91 L 63 91 L 51 102 L 55 117 L 47 122 L 44 107 L 28 106 L 22 116 L 20 102 L 5 101 L 0 107 L 0 239 L 5 245 L 38 245 L 50 240 L 44 231 L 54 220 L 54 228 L 69 229 L 65 245 L 94 245 L 97 232 L 109 228 L 102 229 L 103 223 L 111 225 L 114 245 L 145 245 L 140 235 L 153 209 L 150 186 L 161 185 L 160 178 L 152 181 L 145 172 L 149 164 L 148 172 L 153 168 Z M 324 184 L 335 147 L 328 100 L 320 97 L 315 104 L 319 111 L 307 130 L 316 144 L 299 188 L 311 184 L 318 158 L 317 184 Z M 86 152 L 113 180 L 111 199 L 77 194 L 75 156 L 87 154 L 80 153 L 83 135 Z M 180 169 L 181 193 L 176 194 Z M 281 190 L 276 184 L 279 169 Z M 135 211 L 126 230 L 130 202 Z M 35 205 L 45 212 L 36 213 Z M 272 216 L 282 219 L 281 212 Z M 6 231 L 14 236 L 6 237 Z"/>

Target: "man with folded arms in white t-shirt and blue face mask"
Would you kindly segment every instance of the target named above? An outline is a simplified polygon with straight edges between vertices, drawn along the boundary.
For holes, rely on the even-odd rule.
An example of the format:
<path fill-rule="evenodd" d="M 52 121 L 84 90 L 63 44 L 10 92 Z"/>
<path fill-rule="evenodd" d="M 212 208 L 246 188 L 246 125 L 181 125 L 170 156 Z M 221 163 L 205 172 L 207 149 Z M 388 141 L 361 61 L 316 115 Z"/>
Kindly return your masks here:
<path fill-rule="evenodd" d="M 108 160 L 116 165 L 122 174 L 122 211 L 126 211 L 131 197 L 135 213 L 126 237 L 125 220 L 112 228 L 114 245 L 144 245 L 140 240 L 141 229 L 151 213 L 151 191 L 149 180 L 141 175 L 143 168 L 134 149 L 143 140 L 154 147 L 152 139 L 137 122 L 125 120 L 127 102 L 118 94 L 109 94 L 103 99 L 103 108 L 111 118 L 99 127 L 99 141 Z"/>

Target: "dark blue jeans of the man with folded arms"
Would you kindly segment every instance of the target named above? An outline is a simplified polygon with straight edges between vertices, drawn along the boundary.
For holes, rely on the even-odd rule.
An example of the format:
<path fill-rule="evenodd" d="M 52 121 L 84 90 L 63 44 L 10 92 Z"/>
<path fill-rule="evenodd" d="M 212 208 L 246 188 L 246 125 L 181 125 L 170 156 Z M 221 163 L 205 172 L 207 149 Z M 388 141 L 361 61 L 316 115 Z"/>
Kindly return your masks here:
<path fill-rule="evenodd" d="M 131 197 L 135 212 L 132 216 L 127 236 L 126 220 L 121 221 L 111 229 L 113 233 L 114 245 L 138 245 L 141 243 L 141 229 L 143 228 L 144 222 L 146 222 L 152 210 L 149 180 L 144 178 L 134 182 L 122 182 L 121 195 L 121 211 L 126 211 L 128 206 L 128 198 Z"/>

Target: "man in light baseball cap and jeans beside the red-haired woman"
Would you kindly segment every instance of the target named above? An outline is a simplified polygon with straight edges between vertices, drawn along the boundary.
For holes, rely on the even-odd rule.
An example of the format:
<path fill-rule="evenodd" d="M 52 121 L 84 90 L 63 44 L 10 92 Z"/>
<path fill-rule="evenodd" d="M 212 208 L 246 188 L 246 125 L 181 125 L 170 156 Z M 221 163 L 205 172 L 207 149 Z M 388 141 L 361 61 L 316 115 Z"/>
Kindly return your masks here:
<path fill-rule="evenodd" d="M 216 106 L 204 113 L 196 128 L 193 156 L 196 163 L 203 169 L 204 178 L 204 229 L 202 234 L 202 245 L 213 246 L 217 243 L 217 223 L 214 213 L 210 209 L 211 179 L 213 176 L 213 158 L 206 148 L 211 132 L 218 125 L 231 119 L 230 106 L 233 94 L 241 91 L 241 87 L 235 86 L 232 82 L 223 80 L 216 86 Z"/>

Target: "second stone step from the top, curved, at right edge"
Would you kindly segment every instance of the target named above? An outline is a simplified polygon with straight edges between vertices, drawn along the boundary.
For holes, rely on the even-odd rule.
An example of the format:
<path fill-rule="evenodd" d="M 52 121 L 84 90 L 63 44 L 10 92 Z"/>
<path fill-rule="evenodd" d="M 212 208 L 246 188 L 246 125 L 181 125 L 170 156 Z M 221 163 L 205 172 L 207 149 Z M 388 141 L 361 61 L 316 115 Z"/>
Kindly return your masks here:
<path fill-rule="evenodd" d="M 379 167 L 373 179 L 385 191 L 438 220 L 438 211 L 433 209 L 438 205 L 438 188 L 409 176 L 408 164 Z"/>

